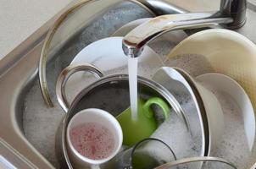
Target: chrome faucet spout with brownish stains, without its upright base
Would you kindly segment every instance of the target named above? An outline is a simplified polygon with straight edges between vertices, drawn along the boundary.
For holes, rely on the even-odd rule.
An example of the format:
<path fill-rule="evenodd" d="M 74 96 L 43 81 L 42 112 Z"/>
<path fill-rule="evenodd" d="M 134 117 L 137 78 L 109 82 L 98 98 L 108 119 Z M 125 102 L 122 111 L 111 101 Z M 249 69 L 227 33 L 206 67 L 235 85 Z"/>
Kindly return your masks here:
<path fill-rule="evenodd" d="M 143 46 L 171 30 L 184 30 L 229 24 L 232 18 L 212 18 L 216 14 L 166 14 L 139 25 L 123 39 L 123 51 L 128 57 L 140 56 Z"/>

